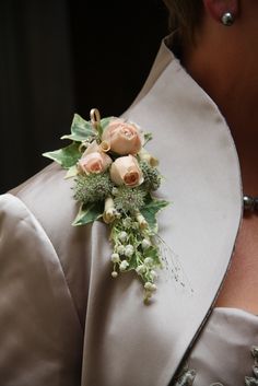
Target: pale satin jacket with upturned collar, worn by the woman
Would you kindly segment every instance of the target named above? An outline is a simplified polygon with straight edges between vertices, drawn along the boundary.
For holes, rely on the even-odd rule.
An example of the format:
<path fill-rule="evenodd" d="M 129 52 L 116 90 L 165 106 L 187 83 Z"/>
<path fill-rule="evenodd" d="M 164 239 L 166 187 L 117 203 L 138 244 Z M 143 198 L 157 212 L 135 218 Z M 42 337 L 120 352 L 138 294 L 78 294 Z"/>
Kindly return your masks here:
<path fill-rule="evenodd" d="M 164 43 L 124 117 L 153 132 L 160 234 L 194 293 L 162 270 L 145 306 L 134 276 L 113 279 L 107 226 L 71 226 L 72 180 L 50 164 L 0 197 L 1 386 L 167 386 L 209 317 L 242 219 L 231 132 Z"/>

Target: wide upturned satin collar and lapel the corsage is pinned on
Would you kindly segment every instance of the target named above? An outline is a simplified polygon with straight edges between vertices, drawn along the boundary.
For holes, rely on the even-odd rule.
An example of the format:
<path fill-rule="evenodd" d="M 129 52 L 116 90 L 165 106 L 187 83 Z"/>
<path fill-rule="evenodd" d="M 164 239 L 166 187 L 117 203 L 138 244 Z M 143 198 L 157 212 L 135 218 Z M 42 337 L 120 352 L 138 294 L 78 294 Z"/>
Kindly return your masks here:
<path fill-rule="evenodd" d="M 218 107 L 164 42 L 124 117 L 153 132 L 148 150 L 165 177 L 159 195 L 172 201 L 159 215 L 164 254 L 168 261 L 177 258 L 194 293 L 176 284 L 168 265 L 152 304 L 144 306 L 134 276 L 106 279 L 109 243 L 103 224 L 94 224 L 82 384 L 166 386 L 206 323 L 230 265 L 242 218 L 239 165 Z"/>

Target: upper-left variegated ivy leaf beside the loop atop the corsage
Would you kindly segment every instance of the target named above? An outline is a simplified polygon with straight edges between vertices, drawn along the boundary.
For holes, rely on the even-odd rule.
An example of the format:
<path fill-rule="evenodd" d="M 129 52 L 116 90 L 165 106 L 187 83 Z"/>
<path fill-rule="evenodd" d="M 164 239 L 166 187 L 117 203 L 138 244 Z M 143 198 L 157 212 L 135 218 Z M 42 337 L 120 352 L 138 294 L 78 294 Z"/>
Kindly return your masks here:
<path fill-rule="evenodd" d="M 87 138 L 95 136 L 96 131 L 93 129 L 91 122 L 83 119 L 79 114 L 74 114 L 71 125 L 71 134 L 62 136 L 61 139 L 83 142 Z"/>

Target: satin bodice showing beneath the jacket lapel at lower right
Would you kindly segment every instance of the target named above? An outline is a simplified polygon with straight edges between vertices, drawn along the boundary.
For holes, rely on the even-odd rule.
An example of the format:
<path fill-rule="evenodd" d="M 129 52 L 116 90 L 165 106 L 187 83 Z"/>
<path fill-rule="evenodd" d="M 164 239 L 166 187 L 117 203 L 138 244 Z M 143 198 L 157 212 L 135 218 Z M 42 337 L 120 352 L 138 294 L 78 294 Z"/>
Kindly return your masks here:
<path fill-rule="evenodd" d="M 258 316 L 238 308 L 215 307 L 183 367 L 196 372 L 195 381 L 169 386 L 256 385 L 251 351 L 258 342 Z M 256 369 L 255 369 L 256 370 Z M 245 378 L 249 378 L 249 383 Z M 250 381 L 253 378 L 253 381 Z"/>

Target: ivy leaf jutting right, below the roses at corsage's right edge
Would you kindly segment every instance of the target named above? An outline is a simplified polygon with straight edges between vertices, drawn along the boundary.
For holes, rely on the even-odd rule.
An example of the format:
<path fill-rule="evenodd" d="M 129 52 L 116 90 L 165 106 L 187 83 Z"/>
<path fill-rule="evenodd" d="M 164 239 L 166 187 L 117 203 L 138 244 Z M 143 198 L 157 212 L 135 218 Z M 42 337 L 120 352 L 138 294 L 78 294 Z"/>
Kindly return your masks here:
<path fill-rule="evenodd" d="M 153 198 L 151 195 L 146 197 L 145 204 L 140 211 L 153 233 L 157 233 L 156 214 L 168 204 L 168 201 Z"/>

